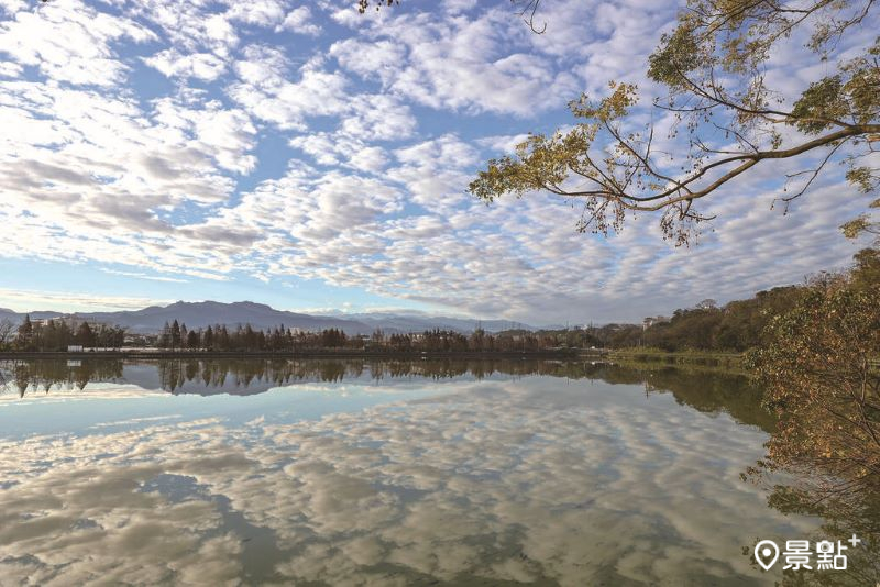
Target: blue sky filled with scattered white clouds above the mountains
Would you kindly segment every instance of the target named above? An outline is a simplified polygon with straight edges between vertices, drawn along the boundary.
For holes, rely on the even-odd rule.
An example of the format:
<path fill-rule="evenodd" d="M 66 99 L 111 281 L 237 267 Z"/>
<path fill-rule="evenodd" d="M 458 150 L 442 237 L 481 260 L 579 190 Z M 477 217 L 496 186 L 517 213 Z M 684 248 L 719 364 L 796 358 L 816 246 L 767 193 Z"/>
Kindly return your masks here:
<path fill-rule="evenodd" d="M 847 266 L 865 243 L 837 226 L 869 198 L 837 167 L 787 213 L 784 164 L 756 167 L 690 247 L 656 215 L 606 239 L 551 195 L 466 192 L 581 92 L 650 96 L 679 8 L 547 1 L 537 35 L 506 0 L 0 0 L 0 307 L 601 323 Z M 783 100 L 833 68 L 800 41 L 767 66 Z"/>

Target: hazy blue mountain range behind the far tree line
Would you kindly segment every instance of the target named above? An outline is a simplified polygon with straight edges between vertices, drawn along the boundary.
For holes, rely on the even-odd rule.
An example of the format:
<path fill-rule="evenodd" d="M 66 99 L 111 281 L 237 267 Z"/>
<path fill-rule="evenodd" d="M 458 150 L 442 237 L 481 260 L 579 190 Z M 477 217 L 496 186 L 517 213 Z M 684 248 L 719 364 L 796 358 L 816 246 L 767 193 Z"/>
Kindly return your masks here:
<path fill-rule="evenodd" d="M 0 308 L 0 320 L 8 319 L 21 322 L 24 313 Z M 340 329 L 345 334 L 372 334 L 377 329 L 386 333 L 422 332 L 425 330 L 443 329 L 458 332 L 473 332 L 483 328 L 487 332 L 498 332 L 512 328 L 536 330 L 527 324 L 506 320 L 474 320 L 466 318 L 436 317 L 417 312 L 374 312 L 359 314 L 312 315 L 276 310 L 264 303 L 237 301 L 222 303 L 218 301 L 187 302 L 178 301 L 169 306 L 151 306 L 142 310 L 117 312 L 76 312 L 74 314 L 55 311 L 29 312 L 31 320 L 74 317 L 107 324 L 124 326 L 129 332 L 152 334 L 160 332 L 166 322 L 177 320 L 188 329 L 204 329 L 215 324 L 235 326 L 251 324 L 255 329 L 271 329 L 284 325 L 301 330 Z"/>

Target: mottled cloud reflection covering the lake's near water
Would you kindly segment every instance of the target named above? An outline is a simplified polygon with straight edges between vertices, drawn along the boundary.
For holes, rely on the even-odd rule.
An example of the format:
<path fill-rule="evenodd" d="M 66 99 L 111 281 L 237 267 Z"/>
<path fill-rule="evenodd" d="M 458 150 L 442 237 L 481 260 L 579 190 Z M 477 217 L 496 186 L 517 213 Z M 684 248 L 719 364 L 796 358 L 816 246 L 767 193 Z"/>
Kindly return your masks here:
<path fill-rule="evenodd" d="M 741 547 L 818 522 L 738 480 L 765 440 L 644 386 L 528 377 L 292 424 L 0 441 L 0 578 L 771 584 Z"/>

